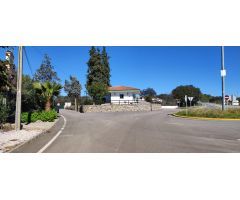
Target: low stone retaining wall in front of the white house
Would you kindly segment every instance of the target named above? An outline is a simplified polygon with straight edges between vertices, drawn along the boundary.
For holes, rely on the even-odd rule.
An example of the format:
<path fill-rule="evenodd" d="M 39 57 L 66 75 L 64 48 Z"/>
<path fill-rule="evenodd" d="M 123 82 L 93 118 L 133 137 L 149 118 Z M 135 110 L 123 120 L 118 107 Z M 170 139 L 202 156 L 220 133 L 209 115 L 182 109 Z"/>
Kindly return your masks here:
<path fill-rule="evenodd" d="M 160 104 L 152 104 L 152 110 L 160 110 Z M 136 112 L 136 111 L 150 111 L 150 103 L 139 103 L 133 105 L 116 105 L 116 104 L 103 104 L 103 105 L 84 105 L 82 112 Z"/>

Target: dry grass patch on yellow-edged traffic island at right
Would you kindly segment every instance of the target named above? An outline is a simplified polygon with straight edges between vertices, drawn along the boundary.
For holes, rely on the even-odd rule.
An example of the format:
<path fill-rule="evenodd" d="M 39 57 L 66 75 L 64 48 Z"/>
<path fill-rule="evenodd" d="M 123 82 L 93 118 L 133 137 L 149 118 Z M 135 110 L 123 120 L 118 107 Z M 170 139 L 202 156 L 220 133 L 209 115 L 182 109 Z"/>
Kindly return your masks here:
<path fill-rule="evenodd" d="M 176 115 L 189 116 L 189 117 L 206 117 L 206 118 L 223 118 L 223 119 L 240 119 L 240 109 L 227 109 L 222 111 L 221 109 L 188 109 L 187 112 L 179 111 Z"/>

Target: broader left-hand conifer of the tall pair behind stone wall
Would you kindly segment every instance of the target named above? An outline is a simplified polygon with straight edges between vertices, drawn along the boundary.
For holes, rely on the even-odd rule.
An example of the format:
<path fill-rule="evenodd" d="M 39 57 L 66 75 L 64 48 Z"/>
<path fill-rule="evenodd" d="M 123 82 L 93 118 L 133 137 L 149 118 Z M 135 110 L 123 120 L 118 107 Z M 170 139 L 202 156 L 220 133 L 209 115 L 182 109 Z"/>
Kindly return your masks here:
<path fill-rule="evenodd" d="M 93 98 L 94 103 L 101 104 L 108 92 L 108 85 L 105 79 L 105 70 L 101 59 L 100 50 L 92 47 L 89 51 L 90 58 L 87 62 L 87 83 L 88 94 Z"/>

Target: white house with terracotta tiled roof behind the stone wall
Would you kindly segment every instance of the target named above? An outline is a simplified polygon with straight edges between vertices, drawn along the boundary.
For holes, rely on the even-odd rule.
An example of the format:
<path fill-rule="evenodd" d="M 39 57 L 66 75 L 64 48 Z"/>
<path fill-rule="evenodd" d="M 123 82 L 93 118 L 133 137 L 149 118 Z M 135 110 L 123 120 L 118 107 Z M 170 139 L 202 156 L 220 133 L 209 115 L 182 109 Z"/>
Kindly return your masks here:
<path fill-rule="evenodd" d="M 140 99 L 140 90 L 127 86 L 109 87 L 107 101 L 112 104 L 134 104 Z"/>

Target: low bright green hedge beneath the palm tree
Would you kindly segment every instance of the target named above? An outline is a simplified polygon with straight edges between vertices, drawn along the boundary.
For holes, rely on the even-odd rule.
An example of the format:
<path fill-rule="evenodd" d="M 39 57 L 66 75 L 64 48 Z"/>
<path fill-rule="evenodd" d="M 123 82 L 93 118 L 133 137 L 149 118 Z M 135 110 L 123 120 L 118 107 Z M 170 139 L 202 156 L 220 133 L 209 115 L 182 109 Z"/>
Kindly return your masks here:
<path fill-rule="evenodd" d="M 22 123 L 31 123 L 38 120 L 43 122 L 53 122 L 57 118 L 55 110 L 40 111 L 40 112 L 24 112 L 21 115 Z"/>

